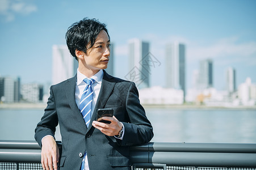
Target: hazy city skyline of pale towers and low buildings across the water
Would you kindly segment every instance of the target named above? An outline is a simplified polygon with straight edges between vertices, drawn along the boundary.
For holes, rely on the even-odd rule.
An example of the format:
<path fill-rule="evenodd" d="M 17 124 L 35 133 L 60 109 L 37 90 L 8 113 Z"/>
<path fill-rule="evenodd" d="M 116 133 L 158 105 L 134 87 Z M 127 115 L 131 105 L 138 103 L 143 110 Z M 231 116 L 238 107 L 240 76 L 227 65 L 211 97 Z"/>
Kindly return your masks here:
<path fill-rule="evenodd" d="M 111 49 L 114 49 L 113 46 Z M 76 73 L 78 63 L 73 57 L 70 57 L 69 50 L 65 45 L 53 45 L 52 50 L 52 81 L 53 84 L 56 84 L 72 77 Z M 129 62 L 132 71 L 125 78 L 137 84 L 141 92 L 142 104 L 182 104 L 183 101 L 188 99 L 188 102 L 195 104 L 203 103 L 205 100 L 207 105 L 219 105 L 218 102 L 233 106 L 241 104 L 255 105 L 256 84 L 252 84 L 251 79 L 246 78 L 246 82 L 239 84 L 238 91 L 236 91 L 236 71 L 232 67 L 225 71 L 226 90 L 216 91 L 213 88 L 212 70 L 214 66 L 212 59 L 200 61 L 199 70 L 193 74 L 194 89 L 188 89 L 188 95 L 186 95 L 187 89 L 184 86 L 185 53 L 186 47 L 183 44 L 168 44 L 166 46 L 165 62 L 166 73 L 168 73 L 166 79 L 171 81 L 166 84 L 165 88 L 160 86 L 151 87 L 148 84 L 150 73 L 161 63 L 149 52 L 149 42 L 139 39 L 129 41 Z M 114 57 L 113 53 L 111 56 Z M 139 65 L 136 65 L 136 63 L 139 63 Z M 111 69 L 113 68 L 114 65 Z M 20 83 L 19 77 L 0 76 L 1 103 L 19 101 L 38 103 L 48 97 L 49 94 L 44 92 L 42 84 L 23 84 Z"/>

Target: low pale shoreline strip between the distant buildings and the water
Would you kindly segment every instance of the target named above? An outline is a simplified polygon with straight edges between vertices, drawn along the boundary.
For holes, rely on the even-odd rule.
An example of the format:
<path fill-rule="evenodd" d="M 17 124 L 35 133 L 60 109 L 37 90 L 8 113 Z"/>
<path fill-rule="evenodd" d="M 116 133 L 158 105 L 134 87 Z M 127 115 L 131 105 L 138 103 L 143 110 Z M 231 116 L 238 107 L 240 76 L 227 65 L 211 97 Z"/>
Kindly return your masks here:
<path fill-rule="evenodd" d="M 144 108 L 170 108 L 170 109 L 251 109 L 256 110 L 256 105 L 253 106 L 207 106 L 207 105 L 165 105 L 165 104 L 142 104 Z M 1 103 L 0 109 L 45 109 L 46 103 Z"/>

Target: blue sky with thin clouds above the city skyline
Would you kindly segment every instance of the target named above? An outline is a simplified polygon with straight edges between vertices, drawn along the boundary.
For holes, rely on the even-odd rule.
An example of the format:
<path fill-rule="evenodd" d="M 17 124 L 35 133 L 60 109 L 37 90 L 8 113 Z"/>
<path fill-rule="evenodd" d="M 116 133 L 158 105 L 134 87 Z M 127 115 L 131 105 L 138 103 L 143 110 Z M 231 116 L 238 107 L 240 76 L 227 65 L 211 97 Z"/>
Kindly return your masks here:
<path fill-rule="evenodd" d="M 256 1 L 0 1 L 0 74 L 22 83 L 51 82 L 52 45 L 65 44 L 68 27 L 84 17 L 106 23 L 115 44 L 115 75 L 129 73 L 128 40 L 150 42 L 161 65 L 152 86 L 165 86 L 165 45 L 186 45 L 187 88 L 200 59 L 213 59 L 213 86 L 225 87 L 225 69 L 237 84 L 256 82 Z"/>

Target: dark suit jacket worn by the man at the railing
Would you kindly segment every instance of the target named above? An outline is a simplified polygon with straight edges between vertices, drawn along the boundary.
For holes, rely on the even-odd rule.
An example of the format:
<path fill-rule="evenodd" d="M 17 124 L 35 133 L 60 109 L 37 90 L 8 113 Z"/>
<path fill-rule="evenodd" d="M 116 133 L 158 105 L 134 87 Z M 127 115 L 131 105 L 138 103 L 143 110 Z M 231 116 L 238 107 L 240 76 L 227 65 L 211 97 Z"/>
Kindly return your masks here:
<path fill-rule="evenodd" d="M 95 105 L 89 128 L 75 103 L 77 76 L 51 87 L 44 116 L 35 129 L 35 139 L 41 146 L 45 135 L 54 136 L 58 123 L 62 137 L 60 169 L 79 169 L 87 152 L 90 170 L 131 169 L 129 146 L 149 142 L 153 128 L 146 118 L 139 101 L 135 83 L 114 78 L 104 71 L 102 87 Z M 109 137 L 95 129 L 91 123 L 96 120 L 100 108 L 113 108 L 114 116 L 124 125 L 123 140 Z"/>

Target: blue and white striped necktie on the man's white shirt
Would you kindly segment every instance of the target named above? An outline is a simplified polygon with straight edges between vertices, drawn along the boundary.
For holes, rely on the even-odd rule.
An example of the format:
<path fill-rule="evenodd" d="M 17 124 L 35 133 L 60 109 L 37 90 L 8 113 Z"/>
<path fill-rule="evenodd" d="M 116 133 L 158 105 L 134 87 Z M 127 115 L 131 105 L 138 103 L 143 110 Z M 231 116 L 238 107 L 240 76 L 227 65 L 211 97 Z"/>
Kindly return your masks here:
<path fill-rule="evenodd" d="M 85 87 L 85 90 L 83 90 L 79 109 L 83 115 L 85 124 L 88 127 L 91 120 L 91 102 L 93 101 L 93 88 L 91 88 L 91 84 L 93 84 L 95 80 L 90 78 L 85 78 L 83 79 L 83 82 L 85 82 L 87 85 Z"/>

